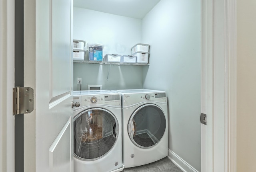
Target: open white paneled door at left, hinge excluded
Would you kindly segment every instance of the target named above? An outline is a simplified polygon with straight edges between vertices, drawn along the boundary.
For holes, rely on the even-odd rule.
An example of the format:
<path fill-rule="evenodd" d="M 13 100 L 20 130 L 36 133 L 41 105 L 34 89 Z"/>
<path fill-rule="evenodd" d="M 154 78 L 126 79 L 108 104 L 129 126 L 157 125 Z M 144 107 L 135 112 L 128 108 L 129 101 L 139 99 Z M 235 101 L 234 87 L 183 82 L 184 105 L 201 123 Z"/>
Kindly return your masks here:
<path fill-rule="evenodd" d="M 73 171 L 72 0 L 24 0 L 24 171 Z"/>

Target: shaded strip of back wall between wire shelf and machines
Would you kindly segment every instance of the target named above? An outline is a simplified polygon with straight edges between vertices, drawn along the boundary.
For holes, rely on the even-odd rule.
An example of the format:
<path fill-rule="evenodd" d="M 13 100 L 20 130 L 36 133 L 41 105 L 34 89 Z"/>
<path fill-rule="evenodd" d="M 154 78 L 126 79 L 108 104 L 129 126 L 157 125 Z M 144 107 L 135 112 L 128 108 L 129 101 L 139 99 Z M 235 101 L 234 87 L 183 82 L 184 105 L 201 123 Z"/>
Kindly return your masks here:
<path fill-rule="evenodd" d="M 74 63 L 74 90 L 80 90 L 77 78 L 82 78 L 81 90 L 87 85 L 102 85 L 103 90 L 143 88 L 147 70 L 148 66 Z"/>

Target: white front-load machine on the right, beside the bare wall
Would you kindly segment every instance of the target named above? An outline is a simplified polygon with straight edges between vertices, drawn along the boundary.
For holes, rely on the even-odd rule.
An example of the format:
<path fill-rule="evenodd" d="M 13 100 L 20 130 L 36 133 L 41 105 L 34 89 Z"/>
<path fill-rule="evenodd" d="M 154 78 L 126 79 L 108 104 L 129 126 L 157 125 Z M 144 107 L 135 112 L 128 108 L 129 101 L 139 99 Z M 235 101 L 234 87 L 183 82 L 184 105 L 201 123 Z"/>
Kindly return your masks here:
<path fill-rule="evenodd" d="M 122 95 L 123 164 L 125 168 L 155 162 L 168 155 L 166 92 L 116 90 Z"/>

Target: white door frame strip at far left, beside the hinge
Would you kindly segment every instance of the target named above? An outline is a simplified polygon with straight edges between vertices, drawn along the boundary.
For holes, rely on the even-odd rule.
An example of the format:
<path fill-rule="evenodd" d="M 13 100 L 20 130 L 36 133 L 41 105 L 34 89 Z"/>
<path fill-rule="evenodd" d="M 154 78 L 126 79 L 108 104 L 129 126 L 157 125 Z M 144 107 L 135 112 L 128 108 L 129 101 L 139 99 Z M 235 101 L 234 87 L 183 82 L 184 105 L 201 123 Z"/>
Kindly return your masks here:
<path fill-rule="evenodd" d="M 0 4 L 0 171 L 14 172 L 14 0 Z"/>

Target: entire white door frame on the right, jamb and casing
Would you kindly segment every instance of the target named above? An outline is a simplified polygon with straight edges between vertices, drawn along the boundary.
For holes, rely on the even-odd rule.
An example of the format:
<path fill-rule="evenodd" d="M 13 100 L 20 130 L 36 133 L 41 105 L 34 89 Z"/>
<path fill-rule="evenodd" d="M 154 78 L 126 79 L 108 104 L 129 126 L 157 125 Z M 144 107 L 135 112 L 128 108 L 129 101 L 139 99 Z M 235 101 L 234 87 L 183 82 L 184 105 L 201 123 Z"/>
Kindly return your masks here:
<path fill-rule="evenodd" d="M 236 172 L 236 0 L 201 0 L 202 172 Z"/>

